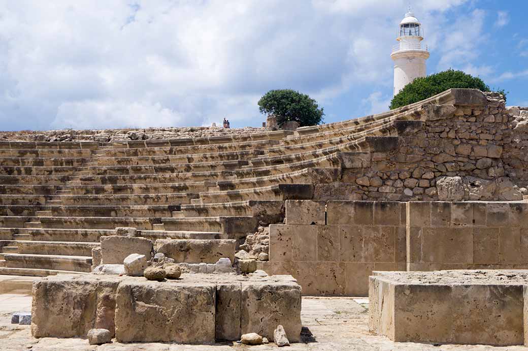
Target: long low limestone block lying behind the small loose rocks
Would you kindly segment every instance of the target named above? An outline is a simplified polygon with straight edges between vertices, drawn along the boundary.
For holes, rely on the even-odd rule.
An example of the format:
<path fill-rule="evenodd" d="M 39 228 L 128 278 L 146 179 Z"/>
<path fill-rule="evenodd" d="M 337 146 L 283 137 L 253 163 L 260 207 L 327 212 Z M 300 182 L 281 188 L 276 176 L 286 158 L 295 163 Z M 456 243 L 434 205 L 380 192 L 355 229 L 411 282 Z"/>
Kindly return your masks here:
<path fill-rule="evenodd" d="M 227 257 L 234 261 L 236 241 L 234 239 L 158 239 L 156 252 L 173 258 L 175 262 L 216 263 Z"/>

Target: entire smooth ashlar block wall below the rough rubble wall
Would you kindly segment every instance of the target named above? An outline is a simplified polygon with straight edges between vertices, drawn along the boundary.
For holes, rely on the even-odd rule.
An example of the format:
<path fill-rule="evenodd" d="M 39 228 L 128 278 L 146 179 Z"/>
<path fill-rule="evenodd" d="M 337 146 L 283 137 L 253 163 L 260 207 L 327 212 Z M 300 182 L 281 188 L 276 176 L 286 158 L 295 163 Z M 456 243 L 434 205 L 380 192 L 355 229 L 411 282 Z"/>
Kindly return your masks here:
<path fill-rule="evenodd" d="M 528 202 L 287 200 L 268 274 L 304 295 L 367 295 L 372 271 L 528 269 Z"/>

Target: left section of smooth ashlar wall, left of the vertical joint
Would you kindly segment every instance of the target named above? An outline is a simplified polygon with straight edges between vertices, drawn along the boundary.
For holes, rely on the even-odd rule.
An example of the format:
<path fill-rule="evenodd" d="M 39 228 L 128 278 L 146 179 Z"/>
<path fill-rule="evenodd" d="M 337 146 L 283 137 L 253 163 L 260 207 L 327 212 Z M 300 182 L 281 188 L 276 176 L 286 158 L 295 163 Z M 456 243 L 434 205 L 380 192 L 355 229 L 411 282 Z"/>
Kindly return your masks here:
<path fill-rule="evenodd" d="M 288 200 L 286 225 L 270 226 L 264 268 L 292 274 L 304 295 L 366 295 L 372 271 L 406 269 L 405 209 L 403 202 Z"/>

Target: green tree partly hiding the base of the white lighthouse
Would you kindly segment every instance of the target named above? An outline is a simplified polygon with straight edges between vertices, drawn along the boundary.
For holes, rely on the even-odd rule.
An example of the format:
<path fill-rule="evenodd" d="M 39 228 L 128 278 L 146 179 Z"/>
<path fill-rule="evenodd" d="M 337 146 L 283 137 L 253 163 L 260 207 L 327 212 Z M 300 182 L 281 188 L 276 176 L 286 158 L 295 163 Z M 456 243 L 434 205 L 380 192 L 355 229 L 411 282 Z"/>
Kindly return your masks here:
<path fill-rule="evenodd" d="M 396 94 L 391 101 L 390 109 L 417 103 L 450 88 L 470 88 L 490 91 L 482 79 L 473 77 L 463 71 L 449 69 L 423 78 L 416 78 Z M 498 90 L 506 99 L 504 90 Z"/>

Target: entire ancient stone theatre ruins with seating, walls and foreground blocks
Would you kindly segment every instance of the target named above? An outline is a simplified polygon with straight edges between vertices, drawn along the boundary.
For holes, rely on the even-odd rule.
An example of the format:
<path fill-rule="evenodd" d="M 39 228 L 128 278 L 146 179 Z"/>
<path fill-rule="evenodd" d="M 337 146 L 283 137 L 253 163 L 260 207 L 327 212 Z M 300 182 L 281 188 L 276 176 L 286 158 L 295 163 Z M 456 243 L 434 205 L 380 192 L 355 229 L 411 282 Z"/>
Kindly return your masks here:
<path fill-rule="evenodd" d="M 295 346 L 302 295 L 369 297 L 390 343 L 528 345 L 527 107 L 450 89 L 291 129 L 0 133 L 33 338 Z"/>

